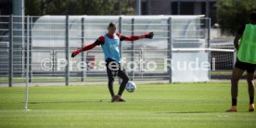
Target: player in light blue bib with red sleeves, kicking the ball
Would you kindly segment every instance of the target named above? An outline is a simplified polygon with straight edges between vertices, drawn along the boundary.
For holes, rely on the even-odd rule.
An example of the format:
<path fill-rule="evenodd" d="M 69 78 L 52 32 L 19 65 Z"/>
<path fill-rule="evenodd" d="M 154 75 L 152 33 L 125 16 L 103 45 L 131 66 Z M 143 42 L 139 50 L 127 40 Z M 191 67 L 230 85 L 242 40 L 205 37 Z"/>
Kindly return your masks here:
<path fill-rule="evenodd" d="M 111 102 L 125 102 L 125 100 L 122 98 L 122 92 L 125 89 L 125 85 L 128 83 L 129 78 L 125 69 L 121 67 L 119 51 L 120 41 L 135 41 L 144 38 L 152 39 L 153 36 L 153 32 L 148 32 L 140 36 L 123 36 L 120 33 L 116 33 L 115 23 L 110 22 L 107 34 L 98 37 L 95 43 L 86 45 L 82 49 L 72 52 L 71 58 L 74 58 L 76 55 L 83 51 L 94 48 L 96 45 L 101 45 L 105 56 L 107 74 L 109 78 L 109 93 L 111 95 Z M 122 78 L 122 83 L 120 85 L 118 95 L 115 95 L 113 90 L 113 83 L 116 75 Z"/>

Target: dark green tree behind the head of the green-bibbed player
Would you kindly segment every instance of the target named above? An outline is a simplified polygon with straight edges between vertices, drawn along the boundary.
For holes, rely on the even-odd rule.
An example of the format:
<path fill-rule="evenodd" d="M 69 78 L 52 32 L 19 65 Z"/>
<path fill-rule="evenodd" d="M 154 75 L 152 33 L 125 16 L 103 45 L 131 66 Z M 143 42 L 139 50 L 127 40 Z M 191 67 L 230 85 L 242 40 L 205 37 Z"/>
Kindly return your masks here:
<path fill-rule="evenodd" d="M 250 12 L 256 10 L 256 0 L 218 0 L 216 6 L 222 31 L 234 34 L 248 23 Z"/>

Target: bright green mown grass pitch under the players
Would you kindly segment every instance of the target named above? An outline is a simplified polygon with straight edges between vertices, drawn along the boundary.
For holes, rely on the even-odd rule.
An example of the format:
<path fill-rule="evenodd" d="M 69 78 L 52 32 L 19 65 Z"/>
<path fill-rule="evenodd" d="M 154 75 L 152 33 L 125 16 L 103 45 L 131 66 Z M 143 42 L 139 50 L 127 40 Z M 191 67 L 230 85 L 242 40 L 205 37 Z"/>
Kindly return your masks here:
<path fill-rule="evenodd" d="M 115 85 L 115 91 L 118 85 Z M 229 83 L 138 84 L 111 103 L 107 85 L 33 86 L 23 110 L 24 87 L 0 88 L 0 127 L 189 127 L 255 128 L 246 83 L 239 84 L 238 112 Z"/>

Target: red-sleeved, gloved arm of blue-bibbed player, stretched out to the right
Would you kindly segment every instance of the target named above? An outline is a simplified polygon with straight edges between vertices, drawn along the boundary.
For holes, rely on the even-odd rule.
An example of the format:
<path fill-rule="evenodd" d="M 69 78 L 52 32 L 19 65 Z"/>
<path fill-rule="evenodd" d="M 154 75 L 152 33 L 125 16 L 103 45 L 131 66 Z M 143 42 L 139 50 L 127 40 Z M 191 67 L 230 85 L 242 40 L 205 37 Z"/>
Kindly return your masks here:
<path fill-rule="evenodd" d="M 133 36 L 123 36 L 121 34 L 118 34 L 118 35 L 120 36 L 121 41 L 135 41 L 135 40 L 144 39 L 144 38 L 152 39 L 154 36 L 154 33 L 148 32 L 142 35 L 133 35 Z"/>

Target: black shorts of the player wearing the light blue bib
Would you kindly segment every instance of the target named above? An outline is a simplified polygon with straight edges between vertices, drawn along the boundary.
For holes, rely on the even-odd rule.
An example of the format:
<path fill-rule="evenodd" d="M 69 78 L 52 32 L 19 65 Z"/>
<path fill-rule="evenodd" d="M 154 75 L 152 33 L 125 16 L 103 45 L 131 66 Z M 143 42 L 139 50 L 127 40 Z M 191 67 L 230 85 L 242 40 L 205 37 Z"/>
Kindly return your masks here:
<path fill-rule="evenodd" d="M 109 64 L 115 65 L 115 66 L 110 68 Z M 116 75 L 118 75 L 122 79 L 129 80 L 126 70 L 122 68 L 121 64 L 118 63 L 117 61 L 111 58 L 106 59 L 106 67 L 107 67 L 108 78 L 110 81 L 114 81 Z"/>

